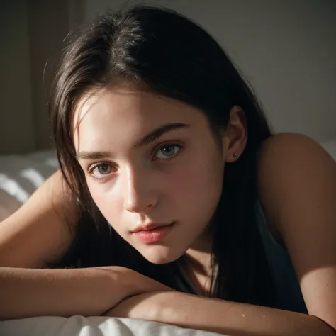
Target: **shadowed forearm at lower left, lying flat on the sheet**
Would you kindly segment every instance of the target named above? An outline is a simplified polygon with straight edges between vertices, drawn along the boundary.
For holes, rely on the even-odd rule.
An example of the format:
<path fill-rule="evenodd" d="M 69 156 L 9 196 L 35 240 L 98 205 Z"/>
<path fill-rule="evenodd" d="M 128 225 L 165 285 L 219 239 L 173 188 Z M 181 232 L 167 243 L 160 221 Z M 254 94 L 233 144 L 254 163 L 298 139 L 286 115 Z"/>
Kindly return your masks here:
<path fill-rule="evenodd" d="M 121 267 L 0 267 L 0 320 L 38 315 L 101 315 L 123 298 L 144 292 L 131 281 L 132 272 Z"/>

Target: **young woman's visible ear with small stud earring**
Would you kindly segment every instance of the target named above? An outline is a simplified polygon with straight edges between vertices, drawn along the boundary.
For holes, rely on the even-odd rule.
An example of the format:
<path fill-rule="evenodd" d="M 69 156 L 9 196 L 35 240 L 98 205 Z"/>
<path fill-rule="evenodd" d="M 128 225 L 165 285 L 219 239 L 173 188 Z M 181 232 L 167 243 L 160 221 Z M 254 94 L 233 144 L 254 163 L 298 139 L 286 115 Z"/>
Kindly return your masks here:
<path fill-rule="evenodd" d="M 245 112 L 240 106 L 230 109 L 230 121 L 223 134 L 223 155 L 225 162 L 235 162 L 245 149 L 247 123 Z"/>

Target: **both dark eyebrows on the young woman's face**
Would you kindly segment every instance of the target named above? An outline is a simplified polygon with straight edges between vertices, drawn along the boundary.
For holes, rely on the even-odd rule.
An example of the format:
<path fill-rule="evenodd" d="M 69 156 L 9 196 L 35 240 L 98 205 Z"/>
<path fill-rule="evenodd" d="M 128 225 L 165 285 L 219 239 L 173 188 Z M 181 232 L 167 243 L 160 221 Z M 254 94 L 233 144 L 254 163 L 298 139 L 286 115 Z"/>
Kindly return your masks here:
<path fill-rule="evenodd" d="M 174 130 L 180 130 L 181 128 L 188 128 L 190 125 L 185 123 L 167 123 L 164 125 L 155 128 L 150 133 L 145 135 L 143 138 L 135 142 L 133 147 L 140 148 L 144 145 L 148 145 L 150 142 L 154 142 L 155 140 L 162 137 L 162 135 L 172 132 Z M 76 159 L 104 159 L 106 157 L 111 157 L 112 153 L 108 151 L 95 151 L 95 152 L 86 152 L 82 151 L 76 155 Z"/>

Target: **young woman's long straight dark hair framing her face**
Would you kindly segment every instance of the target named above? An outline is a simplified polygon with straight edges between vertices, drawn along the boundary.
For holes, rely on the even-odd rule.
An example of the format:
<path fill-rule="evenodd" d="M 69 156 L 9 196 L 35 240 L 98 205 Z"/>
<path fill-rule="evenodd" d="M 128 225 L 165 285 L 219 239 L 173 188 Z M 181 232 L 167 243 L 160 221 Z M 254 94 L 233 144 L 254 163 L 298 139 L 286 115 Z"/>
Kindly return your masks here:
<path fill-rule="evenodd" d="M 128 84 L 177 99 L 203 111 L 214 134 L 229 111 L 245 112 L 248 140 L 240 158 L 225 167 L 223 193 L 213 218 L 218 275 L 214 296 L 274 306 L 274 288 L 256 223 L 257 150 L 271 135 L 257 99 L 220 45 L 203 28 L 170 9 L 133 6 L 100 15 L 67 46 L 50 101 L 62 173 L 78 201 L 80 219 L 60 267 L 118 264 L 162 281 L 177 262 L 155 265 L 113 230 L 95 206 L 75 159 L 73 111 L 87 92 Z M 175 269 L 177 271 L 177 269 Z"/>

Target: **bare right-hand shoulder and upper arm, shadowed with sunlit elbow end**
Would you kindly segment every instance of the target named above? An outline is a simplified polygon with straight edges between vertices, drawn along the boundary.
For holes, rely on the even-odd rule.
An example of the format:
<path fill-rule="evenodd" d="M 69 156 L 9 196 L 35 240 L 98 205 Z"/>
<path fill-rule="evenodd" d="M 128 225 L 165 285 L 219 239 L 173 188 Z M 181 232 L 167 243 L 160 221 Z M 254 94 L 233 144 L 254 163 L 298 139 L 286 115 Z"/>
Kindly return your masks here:
<path fill-rule="evenodd" d="M 267 225 L 289 252 L 310 315 L 336 327 L 336 164 L 318 142 L 285 133 L 259 150 Z"/>

